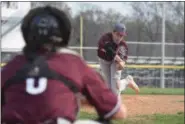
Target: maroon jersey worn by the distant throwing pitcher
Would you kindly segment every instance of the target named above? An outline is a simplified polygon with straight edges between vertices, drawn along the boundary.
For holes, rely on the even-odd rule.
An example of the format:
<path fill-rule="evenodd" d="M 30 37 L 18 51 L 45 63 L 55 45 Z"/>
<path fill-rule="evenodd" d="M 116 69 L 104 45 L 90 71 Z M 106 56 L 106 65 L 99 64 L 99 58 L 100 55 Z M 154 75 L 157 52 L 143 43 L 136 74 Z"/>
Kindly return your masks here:
<path fill-rule="evenodd" d="M 120 42 L 119 45 L 113 43 L 111 32 L 104 34 L 98 42 L 98 57 L 106 61 L 112 61 L 112 58 L 109 57 L 106 52 L 103 50 L 107 42 L 112 42 L 112 47 L 116 53 L 121 57 L 122 60 L 126 61 L 128 58 L 128 46 L 124 40 Z"/>

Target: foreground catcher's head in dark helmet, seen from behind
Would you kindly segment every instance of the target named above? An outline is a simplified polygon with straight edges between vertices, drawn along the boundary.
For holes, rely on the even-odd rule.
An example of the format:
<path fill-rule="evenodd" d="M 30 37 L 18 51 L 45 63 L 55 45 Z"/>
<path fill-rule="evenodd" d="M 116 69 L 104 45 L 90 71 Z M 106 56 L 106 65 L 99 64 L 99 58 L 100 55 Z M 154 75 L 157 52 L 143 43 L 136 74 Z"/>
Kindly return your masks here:
<path fill-rule="evenodd" d="M 71 23 L 67 15 L 53 7 L 38 7 L 24 17 L 21 31 L 30 50 L 43 46 L 64 47 L 68 45 Z"/>

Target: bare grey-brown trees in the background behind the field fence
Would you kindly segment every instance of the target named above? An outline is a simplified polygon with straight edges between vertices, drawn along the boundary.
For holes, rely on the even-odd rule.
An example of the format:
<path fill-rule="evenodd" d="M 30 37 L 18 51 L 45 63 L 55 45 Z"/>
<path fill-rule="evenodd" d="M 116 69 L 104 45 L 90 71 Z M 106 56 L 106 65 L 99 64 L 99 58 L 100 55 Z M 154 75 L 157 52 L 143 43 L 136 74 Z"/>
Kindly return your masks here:
<path fill-rule="evenodd" d="M 103 11 L 100 7 L 94 4 L 81 3 L 79 4 L 80 11 L 75 16 L 72 16 L 72 9 L 65 2 L 31 3 L 32 8 L 46 5 L 62 9 L 70 17 L 73 25 L 73 33 L 71 36 L 71 41 L 73 42 L 70 42 L 70 45 L 79 46 L 80 16 L 83 17 L 84 46 L 97 46 L 98 40 L 101 35 L 106 32 L 112 31 L 112 26 L 116 22 L 122 22 L 126 25 L 127 36 L 125 40 L 127 42 L 161 42 L 162 39 L 163 2 L 122 2 L 123 7 L 125 5 L 129 5 L 131 7 L 131 11 L 126 15 L 122 15 L 121 12 L 116 12 L 113 9 Z M 165 2 L 165 14 L 165 41 L 169 43 L 183 43 L 184 2 Z M 131 54 L 136 55 L 139 53 L 146 53 L 146 51 L 144 51 L 141 47 L 143 46 L 135 46 L 135 50 L 134 52 L 131 51 Z M 150 51 L 151 48 L 153 48 L 153 46 L 150 46 L 148 50 Z M 154 50 L 153 53 L 149 56 L 159 56 L 159 54 L 161 54 L 160 48 L 161 47 L 158 46 L 158 50 Z M 169 48 L 168 51 L 173 54 L 169 56 L 182 54 L 182 48 L 175 49 Z"/>

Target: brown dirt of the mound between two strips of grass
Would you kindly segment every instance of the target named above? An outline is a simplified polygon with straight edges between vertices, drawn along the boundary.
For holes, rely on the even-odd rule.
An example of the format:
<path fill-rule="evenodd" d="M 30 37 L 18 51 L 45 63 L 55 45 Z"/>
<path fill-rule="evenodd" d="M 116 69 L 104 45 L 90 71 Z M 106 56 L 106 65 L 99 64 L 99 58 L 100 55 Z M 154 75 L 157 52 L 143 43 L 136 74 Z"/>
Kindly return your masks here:
<path fill-rule="evenodd" d="M 123 95 L 122 100 L 127 107 L 128 116 L 184 112 L 183 95 Z M 82 103 L 82 111 L 95 112 L 86 101 Z"/>

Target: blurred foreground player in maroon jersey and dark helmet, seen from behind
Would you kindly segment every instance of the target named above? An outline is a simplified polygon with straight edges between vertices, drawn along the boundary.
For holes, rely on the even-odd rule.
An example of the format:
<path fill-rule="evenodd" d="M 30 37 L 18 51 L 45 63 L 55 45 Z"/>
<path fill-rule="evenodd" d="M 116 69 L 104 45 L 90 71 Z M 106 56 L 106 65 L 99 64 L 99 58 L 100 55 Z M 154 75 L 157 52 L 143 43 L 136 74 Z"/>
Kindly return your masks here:
<path fill-rule="evenodd" d="M 1 71 L 2 123 L 93 124 L 77 120 L 78 95 L 92 104 L 99 120 L 126 117 L 126 108 L 77 53 L 67 49 L 71 23 L 56 8 L 30 10 L 21 25 L 25 47 Z"/>

